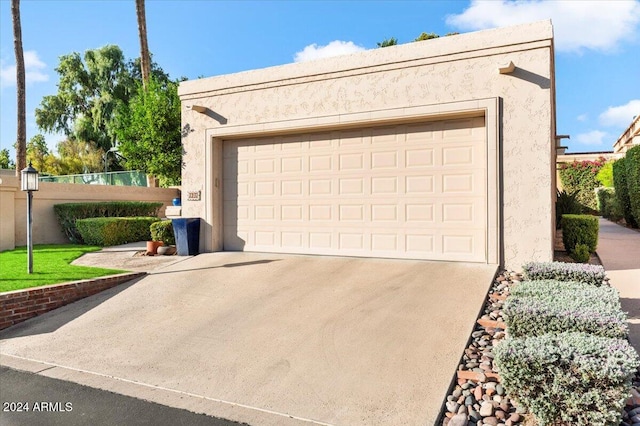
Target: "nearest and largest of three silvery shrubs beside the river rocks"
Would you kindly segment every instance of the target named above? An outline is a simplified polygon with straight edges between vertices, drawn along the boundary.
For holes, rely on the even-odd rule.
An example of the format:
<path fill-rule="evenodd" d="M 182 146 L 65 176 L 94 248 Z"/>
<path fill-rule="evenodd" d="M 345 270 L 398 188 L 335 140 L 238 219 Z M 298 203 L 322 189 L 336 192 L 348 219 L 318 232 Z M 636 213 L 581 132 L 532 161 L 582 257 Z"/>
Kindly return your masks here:
<path fill-rule="evenodd" d="M 494 354 L 509 396 L 540 425 L 619 424 L 640 365 L 626 340 L 586 333 L 507 338 Z"/>

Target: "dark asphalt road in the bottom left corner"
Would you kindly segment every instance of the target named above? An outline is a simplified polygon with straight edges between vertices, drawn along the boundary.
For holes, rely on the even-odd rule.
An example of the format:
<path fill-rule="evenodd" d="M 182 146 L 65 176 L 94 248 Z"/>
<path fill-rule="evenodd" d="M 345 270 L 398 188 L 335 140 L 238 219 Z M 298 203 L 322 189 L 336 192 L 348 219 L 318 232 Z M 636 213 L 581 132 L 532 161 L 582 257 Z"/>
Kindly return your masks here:
<path fill-rule="evenodd" d="M 0 367 L 0 425 L 185 425 L 241 423 Z"/>

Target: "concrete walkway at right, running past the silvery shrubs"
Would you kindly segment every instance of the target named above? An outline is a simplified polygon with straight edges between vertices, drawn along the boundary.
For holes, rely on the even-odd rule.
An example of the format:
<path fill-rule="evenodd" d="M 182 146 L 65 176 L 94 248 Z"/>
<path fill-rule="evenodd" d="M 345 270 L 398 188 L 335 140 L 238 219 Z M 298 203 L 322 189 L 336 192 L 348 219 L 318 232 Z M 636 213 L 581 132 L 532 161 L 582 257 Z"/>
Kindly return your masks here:
<path fill-rule="evenodd" d="M 600 218 L 598 256 L 629 316 L 629 340 L 640 352 L 640 232 Z"/>

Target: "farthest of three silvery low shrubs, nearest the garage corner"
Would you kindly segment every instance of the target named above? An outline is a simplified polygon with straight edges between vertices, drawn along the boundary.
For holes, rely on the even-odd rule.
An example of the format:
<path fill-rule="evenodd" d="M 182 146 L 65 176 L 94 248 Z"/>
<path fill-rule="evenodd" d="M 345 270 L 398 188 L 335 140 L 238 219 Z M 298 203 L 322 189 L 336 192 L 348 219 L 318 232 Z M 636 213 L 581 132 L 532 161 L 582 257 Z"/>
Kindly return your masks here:
<path fill-rule="evenodd" d="M 564 262 L 529 262 L 522 266 L 525 280 L 579 281 L 601 286 L 606 274 L 601 265 Z"/>

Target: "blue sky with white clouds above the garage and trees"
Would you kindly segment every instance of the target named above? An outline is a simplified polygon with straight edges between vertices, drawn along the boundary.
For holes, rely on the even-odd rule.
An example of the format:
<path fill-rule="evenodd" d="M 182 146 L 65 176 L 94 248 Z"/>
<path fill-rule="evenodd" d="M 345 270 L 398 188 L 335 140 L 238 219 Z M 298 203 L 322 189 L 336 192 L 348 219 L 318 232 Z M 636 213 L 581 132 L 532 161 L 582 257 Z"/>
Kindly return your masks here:
<path fill-rule="evenodd" d="M 171 77 L 209 77 L 444 35 L 552 19 L 557 130 L 570 152 L 608 151 L 640 114 L 640 1 L 147 0 L 149 49 Z M 62 55 L 116 44 L 139 55 L 134 0 L 22 0 L 27 139 L 57 91 Z M 0 0 L 0 148 L 16 138 L 11 2 Z M 45 135 L 50 147 L 62 138 Z"/>

